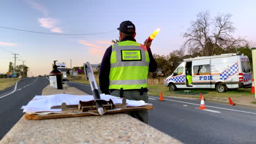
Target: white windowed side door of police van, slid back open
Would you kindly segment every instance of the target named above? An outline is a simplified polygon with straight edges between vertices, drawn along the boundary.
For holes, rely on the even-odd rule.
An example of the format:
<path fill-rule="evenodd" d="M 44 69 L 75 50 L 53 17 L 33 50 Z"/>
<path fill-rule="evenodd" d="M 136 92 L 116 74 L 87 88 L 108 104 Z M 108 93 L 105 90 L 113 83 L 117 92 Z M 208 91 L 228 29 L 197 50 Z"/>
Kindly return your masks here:
<path fill-rule="evenodd" d="M 195 88 L 210 88 L 213 77 L 210 74 L 211 59 L 200 59 L 192 62 L 192 83 Z"/>

